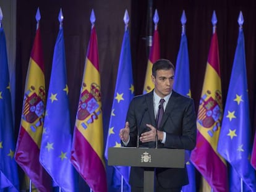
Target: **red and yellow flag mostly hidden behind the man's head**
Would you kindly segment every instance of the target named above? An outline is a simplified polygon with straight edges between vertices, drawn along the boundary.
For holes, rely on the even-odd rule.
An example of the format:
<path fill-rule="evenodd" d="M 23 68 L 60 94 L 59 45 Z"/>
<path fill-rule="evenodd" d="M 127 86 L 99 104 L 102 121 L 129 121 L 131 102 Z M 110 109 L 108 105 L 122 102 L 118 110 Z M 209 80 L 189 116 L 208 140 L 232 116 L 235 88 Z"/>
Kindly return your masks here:
<path fill-rule="evenodd" d="M 160 59 L 160 41 L 159 41 L 159 33 L 158 33 L 157 25 L 155 26 L 155 31 L 154 31 L 152 41 L 153 41 L 152 47 L 150 49 L 150 55 L 148 57 L 148 65 L 147 65 L 147 72 L 146 72 L 145 83 L 143 88 L 143 94 L 149 93 L 154 88 L 153 82 L 151 80 L 152 66 L 154 62 Z"/>

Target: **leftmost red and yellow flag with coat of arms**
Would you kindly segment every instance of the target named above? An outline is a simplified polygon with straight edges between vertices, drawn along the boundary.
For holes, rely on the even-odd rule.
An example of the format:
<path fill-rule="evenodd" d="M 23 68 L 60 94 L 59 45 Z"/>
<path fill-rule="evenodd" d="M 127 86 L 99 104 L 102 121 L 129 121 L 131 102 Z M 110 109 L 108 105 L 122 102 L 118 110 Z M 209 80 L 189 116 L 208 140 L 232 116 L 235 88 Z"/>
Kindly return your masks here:
<path fill-rule="evenodd" d="M 50 191 L 51 179 L 39 162 L 45 118 L 45 67 L 40 28 L 36 30 L 25 83 L 15 160 L 40 191 Z"/>

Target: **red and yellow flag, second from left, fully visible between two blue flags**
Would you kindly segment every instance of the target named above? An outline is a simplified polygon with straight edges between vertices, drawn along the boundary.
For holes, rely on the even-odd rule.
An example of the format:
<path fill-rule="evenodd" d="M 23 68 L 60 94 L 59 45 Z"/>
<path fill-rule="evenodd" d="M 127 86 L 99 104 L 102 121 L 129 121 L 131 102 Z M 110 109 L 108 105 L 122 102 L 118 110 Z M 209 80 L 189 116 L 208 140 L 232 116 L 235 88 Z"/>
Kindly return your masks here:
<path fill-rule="evenodd" d="M 75 120 L 71 162 L 95 192 L 107 191 L 98 42 L 93 26 Z"/>

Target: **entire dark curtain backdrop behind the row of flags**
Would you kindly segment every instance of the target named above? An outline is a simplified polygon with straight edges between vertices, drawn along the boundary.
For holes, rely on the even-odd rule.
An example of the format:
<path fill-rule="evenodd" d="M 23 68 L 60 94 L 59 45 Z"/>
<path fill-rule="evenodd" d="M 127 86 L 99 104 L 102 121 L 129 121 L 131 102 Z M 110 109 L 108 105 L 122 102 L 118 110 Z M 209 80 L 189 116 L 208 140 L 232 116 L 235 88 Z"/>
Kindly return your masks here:
<path fill-rule="evenodd" d="M 152 9 L 148 6 L 152 4 Z M 130 41 L 134 72 L 135 94 L 141 94 L 148 61 L 148 36 L 152 35 L 153 21 L 150 11 L 158 10 L 160 21 L 161 57 L 176 64 L 177 52 L 181 40 L 181 14 L 186 11 L 186 33 L 189 44 L 190 84 L 195 109 L 201 95 L 205 67 L 212 35 L 211 17 L 216 10 L 218 19 L 217 33 L 220 48 L 221 82 L 223 102 L 226 102 L 229 78 L 231 75 L 234 52 L 236 49 L 239 11 L 244 15 L 244 36 L 247 62 L 247 80 L 249 88 L 250 117 L 252 136 L 256 127 L 256 3 L 254 0 L 18 0 L 17 1 L 17 77 L 15 133 L 18 135 L 22 111 L 23 88 L 27 73 L 30 51 L 35 38 L 37 7 L 40 8 L 40 30 L 43 39 L 45 61 L 46 91 L 53 59 L 53 50 L 59 30 L 58 14 L 60 8 L 64 14 L 64 39 L 66 45 L 67 79 L 69 85 L 70 114 L 72 126 L 79 101 L 85 54 L 90 38 L 90 14 L 96 16 L 96 31 L 100 56 L 101 91 L 103 102 L 103 123 L 105 141 L 114 94 L 119 54 L 124 34 L 124 11 L 130 16 Z M 74 126 L 73 126 L 74 127 Z M 73 128 L 72 127 L 72 128 Z M 123 125 L 120 125 L 123 127 Z M 108 184 L 111 182 L 111 167 L 108 170 Z M 80 179 L 80 189 L 85 190 Z M 109 188 L 109 191 L 114 191 Z"/>

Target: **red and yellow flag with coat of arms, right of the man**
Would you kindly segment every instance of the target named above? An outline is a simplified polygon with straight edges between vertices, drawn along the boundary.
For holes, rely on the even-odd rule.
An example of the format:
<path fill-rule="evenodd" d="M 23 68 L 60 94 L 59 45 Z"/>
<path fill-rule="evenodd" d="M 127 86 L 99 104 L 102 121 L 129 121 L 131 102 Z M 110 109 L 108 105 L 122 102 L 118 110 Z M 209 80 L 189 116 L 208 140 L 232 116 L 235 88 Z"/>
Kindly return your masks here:
<path fill-rule="evenodd" d="M 213 33 L 197 116 L 197 144 L 190 159 L 213 191 L 228 191 L 227 166 L 217 152 L 223 118 L 218 36 Z"/>

